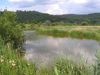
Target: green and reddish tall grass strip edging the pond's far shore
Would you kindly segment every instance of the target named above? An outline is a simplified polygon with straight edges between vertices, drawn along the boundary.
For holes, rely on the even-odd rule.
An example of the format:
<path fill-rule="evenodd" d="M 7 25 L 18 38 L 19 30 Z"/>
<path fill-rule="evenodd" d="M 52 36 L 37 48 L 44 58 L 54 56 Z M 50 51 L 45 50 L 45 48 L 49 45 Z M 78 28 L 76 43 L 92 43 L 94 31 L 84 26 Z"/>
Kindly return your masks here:
<path fill-rule="evenodd" d="M 79 39 L 94 39 L 100 41 L 100 30 L 61 30 L 61 29 L 38 29 L 37 34 L 50 35 L 55 37 L 72 37 Z"/>

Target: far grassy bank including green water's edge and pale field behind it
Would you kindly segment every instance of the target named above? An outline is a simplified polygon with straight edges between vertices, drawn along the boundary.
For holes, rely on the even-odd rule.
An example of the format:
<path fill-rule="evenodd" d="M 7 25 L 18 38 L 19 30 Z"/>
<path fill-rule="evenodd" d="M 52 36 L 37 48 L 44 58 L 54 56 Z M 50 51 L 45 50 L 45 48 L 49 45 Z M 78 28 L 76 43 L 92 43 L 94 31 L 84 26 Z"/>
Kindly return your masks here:
<path fill-rule="evenodd" d="M 94 39 L 100 41 L 100 27 L 99 26 L 70 26 L 63 28 L 39 28 L 36 31 L 38 34 L 43 35 L 52 35 L 54 37 L 72 37 L 79 39 Z"/>

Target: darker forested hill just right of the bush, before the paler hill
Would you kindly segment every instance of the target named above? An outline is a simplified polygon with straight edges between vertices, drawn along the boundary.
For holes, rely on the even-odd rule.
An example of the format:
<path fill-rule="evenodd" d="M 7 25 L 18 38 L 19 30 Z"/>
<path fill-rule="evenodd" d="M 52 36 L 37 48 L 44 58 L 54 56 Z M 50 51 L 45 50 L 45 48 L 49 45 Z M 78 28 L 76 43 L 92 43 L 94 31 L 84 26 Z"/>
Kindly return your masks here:
<path fill-rule="evenodd" d="M 63 16 L 49 15 L 37 11 L 16 11 L 16 13 L 19 22 L 45 22 L 46 20 L 50 20 L 51 22 L 65 21 Z"/>

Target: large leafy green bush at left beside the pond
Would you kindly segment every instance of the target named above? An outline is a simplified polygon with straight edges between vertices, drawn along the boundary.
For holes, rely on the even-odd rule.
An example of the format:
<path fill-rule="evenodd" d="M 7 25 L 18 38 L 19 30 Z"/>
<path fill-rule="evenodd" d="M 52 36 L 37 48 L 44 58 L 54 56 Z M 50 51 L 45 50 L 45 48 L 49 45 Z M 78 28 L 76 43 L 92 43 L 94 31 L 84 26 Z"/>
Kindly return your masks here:
<path fill-rule="evenodd" d="M 14 47 L 22 46 L 24 42 L 23 29 L 16 22 L 16 13 L 5 9 L 0 16 L 0 36 L 5 43 L 11 42 Z"/>

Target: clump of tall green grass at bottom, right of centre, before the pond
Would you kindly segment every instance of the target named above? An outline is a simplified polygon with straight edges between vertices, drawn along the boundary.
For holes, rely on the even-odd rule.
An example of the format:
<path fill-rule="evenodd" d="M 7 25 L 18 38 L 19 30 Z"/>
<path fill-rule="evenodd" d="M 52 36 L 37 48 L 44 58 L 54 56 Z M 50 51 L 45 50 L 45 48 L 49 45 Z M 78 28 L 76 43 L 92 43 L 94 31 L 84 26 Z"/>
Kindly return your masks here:
<path fill-rule="evenodd" d="M 92 75 L 91 67 L 86 62 L 75 63 L 71 59 L 60 59 L 55 63 L 58 75 Z M 56 74 L 57 75 L 57 74 Z"/>

